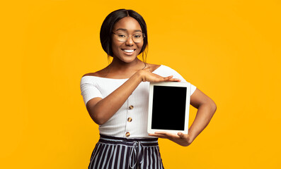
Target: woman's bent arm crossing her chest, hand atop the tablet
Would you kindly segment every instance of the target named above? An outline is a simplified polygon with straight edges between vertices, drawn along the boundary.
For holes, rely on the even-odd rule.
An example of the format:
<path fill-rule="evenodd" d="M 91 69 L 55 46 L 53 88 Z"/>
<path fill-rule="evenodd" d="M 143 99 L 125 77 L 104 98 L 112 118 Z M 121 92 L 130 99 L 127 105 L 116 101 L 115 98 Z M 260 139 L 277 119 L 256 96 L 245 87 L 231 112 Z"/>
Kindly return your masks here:
<path fill-rule="evenodd" d="M 119 110 L 140 82 L 180 81 L 172 77 L 173 76 L 161 77 L 150 73 L 148 69 L 139 70 L 104 99 L 97 97 L 88 101 L 86 104 L 87 111 L 95 123 L 103 125 Z"/>

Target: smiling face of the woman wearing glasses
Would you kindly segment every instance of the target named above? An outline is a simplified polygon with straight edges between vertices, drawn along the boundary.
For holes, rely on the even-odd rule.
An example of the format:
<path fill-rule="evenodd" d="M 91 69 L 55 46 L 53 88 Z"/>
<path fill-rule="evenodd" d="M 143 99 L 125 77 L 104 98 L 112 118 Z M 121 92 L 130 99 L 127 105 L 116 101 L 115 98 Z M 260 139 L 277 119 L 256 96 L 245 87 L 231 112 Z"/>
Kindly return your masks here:
<path fill-rule="evenodd" d="M 142 45 L 144 41 L 140 43 L 134 43 L 132 40 L 132 35 L 142 34 L 142 28 L 140 27 L 137 20 L 128 16 L 118 20 L 113 27 L 112 35 L 112 49 L 113 49 L 113 58 L 119 59 L 125 63 L 131 63 L 137 58 L 139 51 L 142 50 Z M 129 37 L 126 42 L 120 42 L 118 40 L 118 35 L 127 34 Z"/>

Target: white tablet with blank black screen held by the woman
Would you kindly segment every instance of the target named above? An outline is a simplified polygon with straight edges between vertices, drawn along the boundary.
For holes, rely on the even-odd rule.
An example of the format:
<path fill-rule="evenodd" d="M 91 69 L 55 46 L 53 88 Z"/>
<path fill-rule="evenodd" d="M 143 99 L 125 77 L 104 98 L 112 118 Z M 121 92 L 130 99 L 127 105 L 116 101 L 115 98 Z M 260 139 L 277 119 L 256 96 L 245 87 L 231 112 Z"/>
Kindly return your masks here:
<path fill-rule="evenodd" d="M 147 132 L 188 134 L 189 82 L 156 82 L 149 85 Z"/>

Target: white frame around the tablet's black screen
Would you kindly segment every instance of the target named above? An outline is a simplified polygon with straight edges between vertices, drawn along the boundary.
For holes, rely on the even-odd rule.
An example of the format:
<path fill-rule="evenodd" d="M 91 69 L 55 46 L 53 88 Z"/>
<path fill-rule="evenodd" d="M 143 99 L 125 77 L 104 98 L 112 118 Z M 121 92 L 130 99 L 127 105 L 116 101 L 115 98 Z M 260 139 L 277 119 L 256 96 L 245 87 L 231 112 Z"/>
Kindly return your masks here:
<path fill-rule="evenodd" d="M 151 128 L 154 85 L 166 86 L 166 87 L 186 87 L 184 130 L 163 130 L 163 129 L 152 129 Z M 148 133 L 154 134 L 154 132 L 170 132 L 173 134 L 177 134 L 178 132 L 183 132 L 184 134 L 188 134 L 188 120 L 189 120 L 189 111 L 190 111 L 190 87 L 191 87 L 191 84 L 189 82 L 151 82 L 149 84 L 149 113 L 148 113 L 148 123 L 147 123 L 147 132 Z"/>

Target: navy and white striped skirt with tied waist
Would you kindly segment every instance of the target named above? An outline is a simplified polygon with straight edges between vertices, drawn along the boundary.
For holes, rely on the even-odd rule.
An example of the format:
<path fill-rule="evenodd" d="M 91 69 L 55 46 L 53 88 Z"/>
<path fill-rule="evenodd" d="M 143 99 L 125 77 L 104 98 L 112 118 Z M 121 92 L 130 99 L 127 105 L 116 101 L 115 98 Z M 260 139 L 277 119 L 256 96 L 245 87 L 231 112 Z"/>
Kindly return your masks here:
<path fill-rule="evenodd" d="M 162 169 L 158 138 L 127 139 L 101 134 L 88 169 Z"/>

